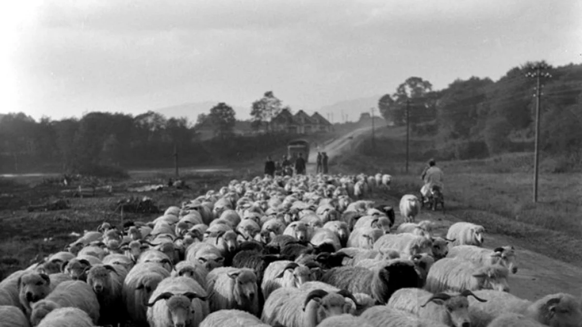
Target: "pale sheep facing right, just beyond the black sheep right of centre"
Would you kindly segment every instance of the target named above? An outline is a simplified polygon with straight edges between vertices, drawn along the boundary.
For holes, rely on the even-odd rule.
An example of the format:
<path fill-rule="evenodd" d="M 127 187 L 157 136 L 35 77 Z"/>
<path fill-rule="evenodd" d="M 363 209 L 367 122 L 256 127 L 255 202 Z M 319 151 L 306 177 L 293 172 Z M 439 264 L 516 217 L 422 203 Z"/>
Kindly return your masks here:
<path fill-rule="evenodd" d="M 408 255 L 432 253 L 432 240 L 410 233 L 384 234 L 374 243 L 374 250 L 393 248 Z"/>

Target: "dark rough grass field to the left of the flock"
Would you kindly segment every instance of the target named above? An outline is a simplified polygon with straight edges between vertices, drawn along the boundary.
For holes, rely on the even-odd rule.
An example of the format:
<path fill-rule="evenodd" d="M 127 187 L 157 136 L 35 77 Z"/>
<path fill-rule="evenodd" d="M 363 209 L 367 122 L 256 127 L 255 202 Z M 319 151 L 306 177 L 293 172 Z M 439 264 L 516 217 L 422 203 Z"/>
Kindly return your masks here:
<path fill-rule="evenodd" d="M 190 190 L 152 191 L 130 193 L 127 187 L 165 183 L 171 173 L 140 172 L 125 182 L 114 183 L 111 196 L 69 198 L 71 208 L 59 211 L 27 212 L 30 204 L 43 204 L 62 197 L 64 187 L 47 186 L 41 178 L 0 179 L 0 280 L 18 269 L 29 266 L 38 255 L 61 251 L 77 237 L 71 232 L 94 230 L 104 221 L 120 222 L 121 216 L 113 211 L 123 198 L 148 196 L 160 209 L 180 205 L 208 190 L 218 190 L 234 178 L 257 175 L 258 170 L 240 167 L 232 172 L 183 175 Z M 161 214 L 125 214 L 125 221 L 148 221 Z"/>

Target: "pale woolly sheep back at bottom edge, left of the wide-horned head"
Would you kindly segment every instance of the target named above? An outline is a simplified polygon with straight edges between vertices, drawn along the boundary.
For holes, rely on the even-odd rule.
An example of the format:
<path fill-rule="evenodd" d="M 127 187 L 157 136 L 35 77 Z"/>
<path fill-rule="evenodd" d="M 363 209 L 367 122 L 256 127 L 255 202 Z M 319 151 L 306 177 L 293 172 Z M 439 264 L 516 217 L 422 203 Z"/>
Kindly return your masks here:
<path fill-rule="evenodd" d="M 432 319 L 422 319 L 403 310 L 387 305 L 374 305 L 364 311 L 360 318 L 374 327 L 448 327 Z"/>

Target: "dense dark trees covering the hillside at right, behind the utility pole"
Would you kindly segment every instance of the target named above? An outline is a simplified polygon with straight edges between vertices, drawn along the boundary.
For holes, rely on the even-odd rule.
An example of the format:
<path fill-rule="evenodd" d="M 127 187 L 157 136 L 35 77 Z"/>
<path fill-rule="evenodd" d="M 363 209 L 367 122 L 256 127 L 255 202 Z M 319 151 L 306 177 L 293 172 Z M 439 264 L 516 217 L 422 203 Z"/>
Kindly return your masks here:
<path fill-rule="evenodd" d="M 541 62 L 545 63 L 545 62 Z M 536 80 L 526 77 L 538 62 L 513 67 L 498 81 L 457 79 L 442 90 L 410 77 L 378 101 L 386 120 L 407 122 L 415 136 L 432 137 L 453 157 L 469 159 L 532 148 Z M 572 165 L 582 159 L 582 64 L 551 67 L 542 79 L 540 141 L 546 155 Z"/>

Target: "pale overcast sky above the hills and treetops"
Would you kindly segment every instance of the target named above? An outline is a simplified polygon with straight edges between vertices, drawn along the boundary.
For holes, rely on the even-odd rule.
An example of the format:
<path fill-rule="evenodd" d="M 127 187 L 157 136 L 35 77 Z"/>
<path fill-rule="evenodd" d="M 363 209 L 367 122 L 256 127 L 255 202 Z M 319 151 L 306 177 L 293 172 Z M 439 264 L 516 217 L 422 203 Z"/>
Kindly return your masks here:
<path fill-rule="evenodd" d="M 313 111 L 410 76 L 439 89 L 529 60 L 582 61 L 580 0 L 6 2 L 0 112 L 36 119 L 249 107 L 267 90 Z"/>

